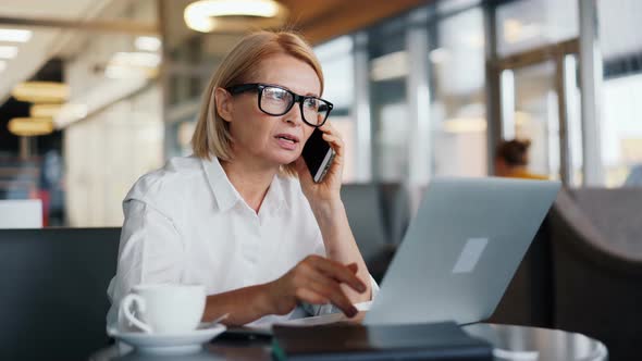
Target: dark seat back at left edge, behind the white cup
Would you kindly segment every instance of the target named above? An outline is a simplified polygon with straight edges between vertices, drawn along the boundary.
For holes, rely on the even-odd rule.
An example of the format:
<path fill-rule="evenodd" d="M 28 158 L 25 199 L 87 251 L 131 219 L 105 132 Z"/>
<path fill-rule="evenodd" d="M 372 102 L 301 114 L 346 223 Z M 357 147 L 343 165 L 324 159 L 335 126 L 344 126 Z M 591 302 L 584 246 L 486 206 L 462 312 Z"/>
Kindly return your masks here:
<path fill-rule="evenodd" d="M 0 231 L 0 360 L 86 360 L 104 347 L 120 228 Z"/>

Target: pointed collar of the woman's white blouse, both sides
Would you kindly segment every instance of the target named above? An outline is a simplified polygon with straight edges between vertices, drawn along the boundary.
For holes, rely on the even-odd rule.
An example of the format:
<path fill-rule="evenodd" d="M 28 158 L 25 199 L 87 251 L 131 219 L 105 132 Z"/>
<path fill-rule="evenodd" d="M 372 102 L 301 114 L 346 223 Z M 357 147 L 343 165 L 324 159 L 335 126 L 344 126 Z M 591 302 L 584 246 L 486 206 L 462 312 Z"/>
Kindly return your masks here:
<path fill-rule="evenodd" d="M 245 202 L 227 178 L 227 174 L 225 174 L 218 158 L 213 157 L 211 161 L 201 159 L 201 162 L 220 211 L 227 211 L 237 202 Z M 280 176 L 275 175 L 270 184 L 270 189 L 266 194 L 261 208 L 266 207 L 269 211 L 276 211 L 287 206 Z"/>

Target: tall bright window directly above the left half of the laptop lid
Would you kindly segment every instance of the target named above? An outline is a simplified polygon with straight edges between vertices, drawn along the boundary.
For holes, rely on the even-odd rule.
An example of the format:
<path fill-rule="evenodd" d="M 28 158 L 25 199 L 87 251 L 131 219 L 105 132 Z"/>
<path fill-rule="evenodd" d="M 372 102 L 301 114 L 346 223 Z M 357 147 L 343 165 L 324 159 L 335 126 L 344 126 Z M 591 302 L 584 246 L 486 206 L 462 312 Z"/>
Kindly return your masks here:
<path fill-rule="evenodd" d="M 474 8 L 429 28 L 436 32 L 436 43 L 428 53 L 434 95 L 431 102 L 433 174 L 486 175 L 482 11 Z"/>

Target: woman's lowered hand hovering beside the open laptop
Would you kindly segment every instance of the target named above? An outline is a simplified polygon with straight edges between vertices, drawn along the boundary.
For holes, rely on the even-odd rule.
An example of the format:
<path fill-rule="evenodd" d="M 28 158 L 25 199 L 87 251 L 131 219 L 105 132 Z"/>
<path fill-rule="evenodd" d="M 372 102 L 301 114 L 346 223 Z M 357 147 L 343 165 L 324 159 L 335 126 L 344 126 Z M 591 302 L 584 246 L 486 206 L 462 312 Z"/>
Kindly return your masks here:
<path fill-rule="evenodd" d="M 355 275 L 357 264 L 347 266 L 319 256 L 308 256 L 281 278 L 266 284 L 270 313 L 286 314 L 299 301 L 311 304 L 332 304 L 347 316 L 357 314 L 357 309 L 341 289 L 346 284 L 359 294 L 366 285 Z"/>

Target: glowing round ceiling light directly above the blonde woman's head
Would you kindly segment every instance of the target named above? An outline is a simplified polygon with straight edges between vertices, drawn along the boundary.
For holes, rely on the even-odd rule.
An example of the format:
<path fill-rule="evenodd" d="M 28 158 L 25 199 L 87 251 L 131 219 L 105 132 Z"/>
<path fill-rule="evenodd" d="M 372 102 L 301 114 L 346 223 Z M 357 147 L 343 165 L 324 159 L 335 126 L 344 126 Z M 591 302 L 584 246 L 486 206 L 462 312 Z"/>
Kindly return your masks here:
<path fill-rule="evenodd" d="M 250 24 L 280 26 L 287 17 L 287 10 L 274 0 L 199 0 L 187 5 L 183 16 L 187 26 L 197 32 L 233 32 L 247 29 Z M 254 18 L 248 22 L 247 17 Z"/>

